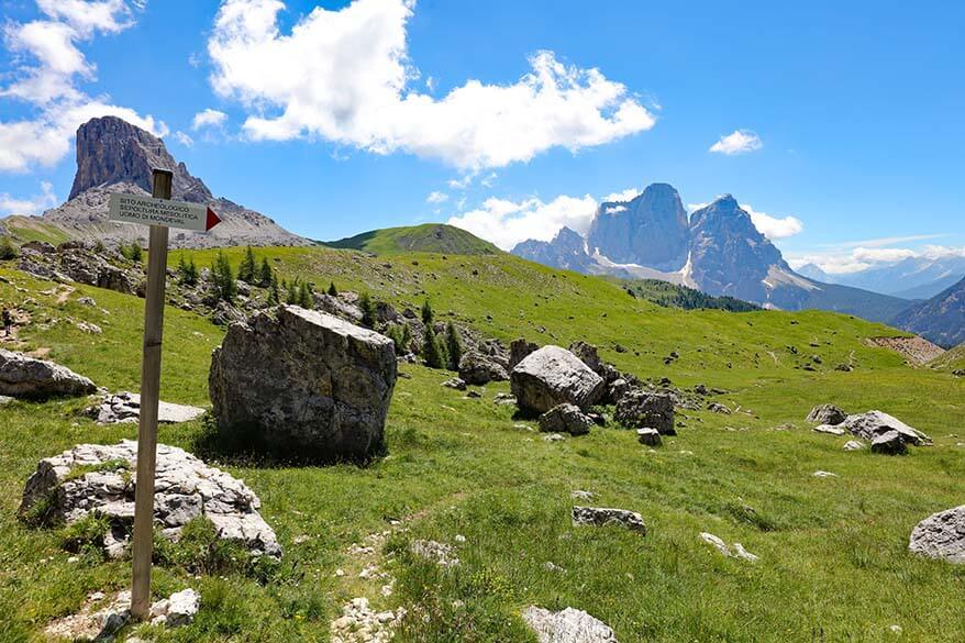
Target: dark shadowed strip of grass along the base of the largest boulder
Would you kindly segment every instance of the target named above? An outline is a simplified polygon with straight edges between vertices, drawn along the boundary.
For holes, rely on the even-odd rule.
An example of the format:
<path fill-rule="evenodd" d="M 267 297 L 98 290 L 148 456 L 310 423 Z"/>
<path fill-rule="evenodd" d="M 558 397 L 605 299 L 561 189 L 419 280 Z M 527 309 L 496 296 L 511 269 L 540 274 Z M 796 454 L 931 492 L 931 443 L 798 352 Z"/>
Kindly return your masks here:
<path fill-rule="evenodd" d="M 268 439 L 256 424 L 221 429 L 212 414 L 207 414 L 201 431 L 193 437 L 191 451 L 201 459 L 217 459 L 239 467 L 287 468 L 350 464 L 366 467 L 388 455 L 385 439 L 369 445 L 364 455 L 346 456 L 296 441 Z"/>

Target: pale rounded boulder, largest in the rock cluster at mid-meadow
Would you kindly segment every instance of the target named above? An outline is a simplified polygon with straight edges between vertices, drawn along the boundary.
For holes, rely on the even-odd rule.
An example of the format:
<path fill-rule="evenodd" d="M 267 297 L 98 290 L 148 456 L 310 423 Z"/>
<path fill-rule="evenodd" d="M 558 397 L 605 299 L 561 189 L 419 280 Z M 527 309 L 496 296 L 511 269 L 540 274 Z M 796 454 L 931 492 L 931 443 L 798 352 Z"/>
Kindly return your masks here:
<path fill-rule="evenodd" d="M 520 408 L 536 413 L 566 402 L 586 409 L 600 399 L 603 386 L 603 378 L 559 346 L 531 353 L 510 374 Z"/>

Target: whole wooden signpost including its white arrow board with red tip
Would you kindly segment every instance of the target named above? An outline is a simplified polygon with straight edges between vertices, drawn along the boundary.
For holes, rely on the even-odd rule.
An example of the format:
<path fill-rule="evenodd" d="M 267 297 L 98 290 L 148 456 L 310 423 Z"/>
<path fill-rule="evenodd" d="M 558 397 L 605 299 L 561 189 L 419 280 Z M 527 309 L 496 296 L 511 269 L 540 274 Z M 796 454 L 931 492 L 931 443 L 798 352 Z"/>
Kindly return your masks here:
<path fill-rule="evenodd" d="M 141 364 L 141 423 L 137 428 L 137 477 L 134 488 L 133 580 L 131 616 L 147 618 L 151 609 L 151 556 L 154 539 L 154 473 L 157 459 L 157 406 L 160 399 L 160 347 L 167 277 L 167 231 L 204 232 L 219 223 L 211 208 L 171 201 L 174 173 L 154 170 L 153 196 L 111 195 L 111 221 L 151 225 L 147 245 L 147 292 L 144 302 L 144 353 Z"/>

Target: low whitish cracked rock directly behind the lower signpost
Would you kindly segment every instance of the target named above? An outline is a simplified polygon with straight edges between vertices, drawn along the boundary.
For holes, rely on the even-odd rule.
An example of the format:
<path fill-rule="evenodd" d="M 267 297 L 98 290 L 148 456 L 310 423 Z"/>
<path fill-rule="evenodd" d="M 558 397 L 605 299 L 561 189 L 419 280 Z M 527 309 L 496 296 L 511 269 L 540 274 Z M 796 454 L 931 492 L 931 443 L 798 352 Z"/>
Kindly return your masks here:
<path fill-rule="evenodd" d="M 80 444 L 42 459 L 26 480 L 19 514 L 42 523 L 77 522 L 89 514 L 109 519 L 104 550 L 119 556 L 134 521 L 137 443 Z M 255 555 L 281 556 L 275 532 L 258 513 L 260 501 L 242 480 L 193 455 L 157 445 L 154 520 L 176 540 L 191 520 L 208 518 L 219 537 L 237 541 Z M 34 514 L 42 511 L 42 515 Z"/>

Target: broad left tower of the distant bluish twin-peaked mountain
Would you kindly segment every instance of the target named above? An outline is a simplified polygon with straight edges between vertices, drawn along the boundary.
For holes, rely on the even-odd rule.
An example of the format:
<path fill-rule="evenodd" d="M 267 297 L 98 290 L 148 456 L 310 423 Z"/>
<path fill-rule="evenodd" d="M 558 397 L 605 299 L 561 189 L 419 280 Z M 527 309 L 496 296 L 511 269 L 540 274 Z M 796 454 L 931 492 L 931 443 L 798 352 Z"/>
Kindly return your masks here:
<path fill-rule="evenodd" d="M 679 270 L 687 263 L 690 225 L 680 195 L 653 184 L 624 203 L 601 203 L 587 234 L 592 251 L 618 264 Z"/>

